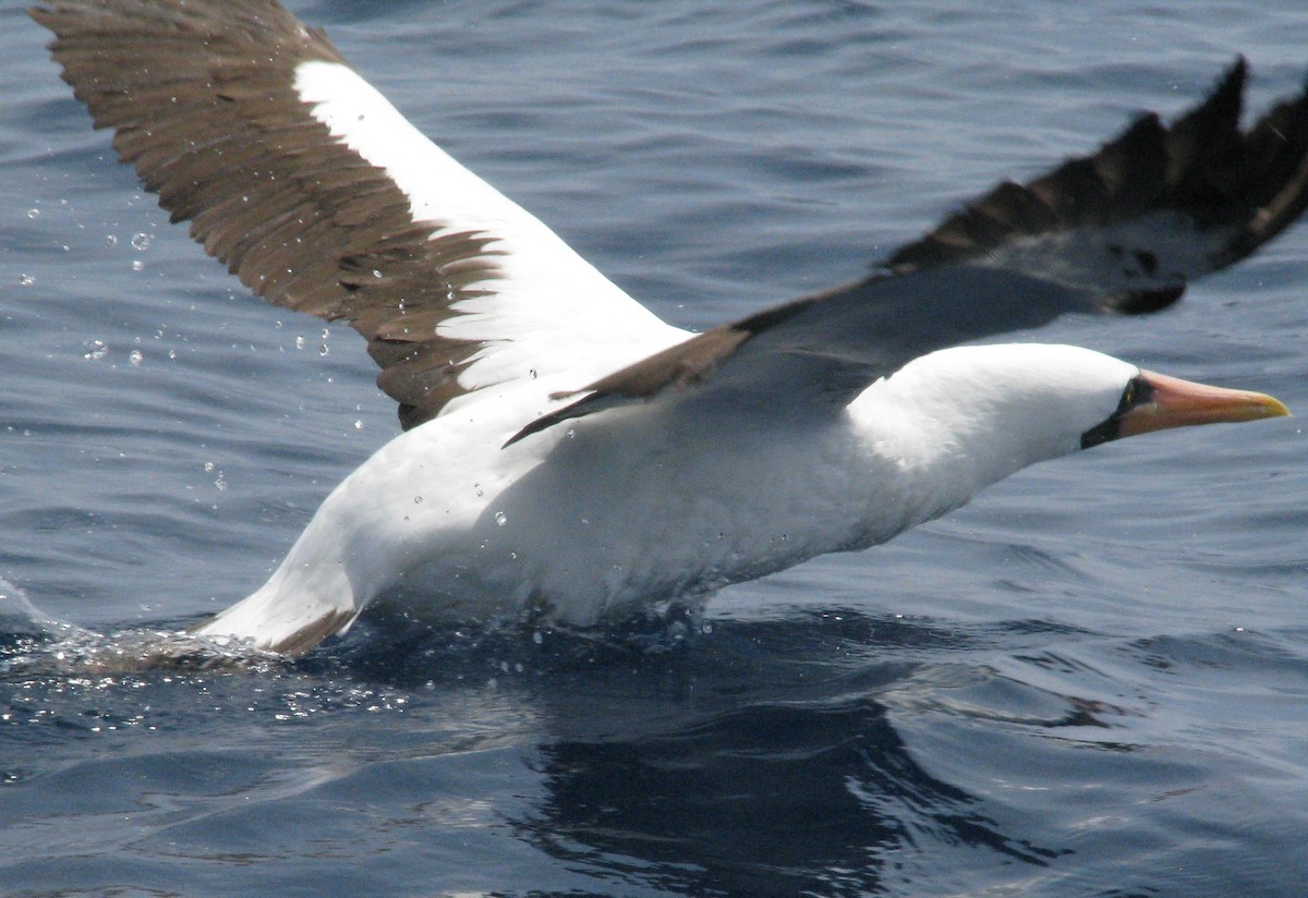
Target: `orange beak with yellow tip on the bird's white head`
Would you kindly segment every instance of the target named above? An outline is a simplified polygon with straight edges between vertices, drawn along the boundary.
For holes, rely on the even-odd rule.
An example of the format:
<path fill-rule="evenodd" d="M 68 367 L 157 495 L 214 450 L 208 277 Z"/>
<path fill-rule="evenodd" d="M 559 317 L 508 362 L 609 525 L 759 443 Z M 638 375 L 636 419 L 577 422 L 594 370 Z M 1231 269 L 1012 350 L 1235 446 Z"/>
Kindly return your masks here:
<path fill-rule="evenodd" d="M 1152 393 L 1122 416 L 1117 431 L 1120 437 L 1197 424 L 1257 421 L 1290 414 L 1281 400 L 1264 393 L 1209 387 L 1154 371 L 1141 371 L 1141 378 L 1152 387 Z"/>

